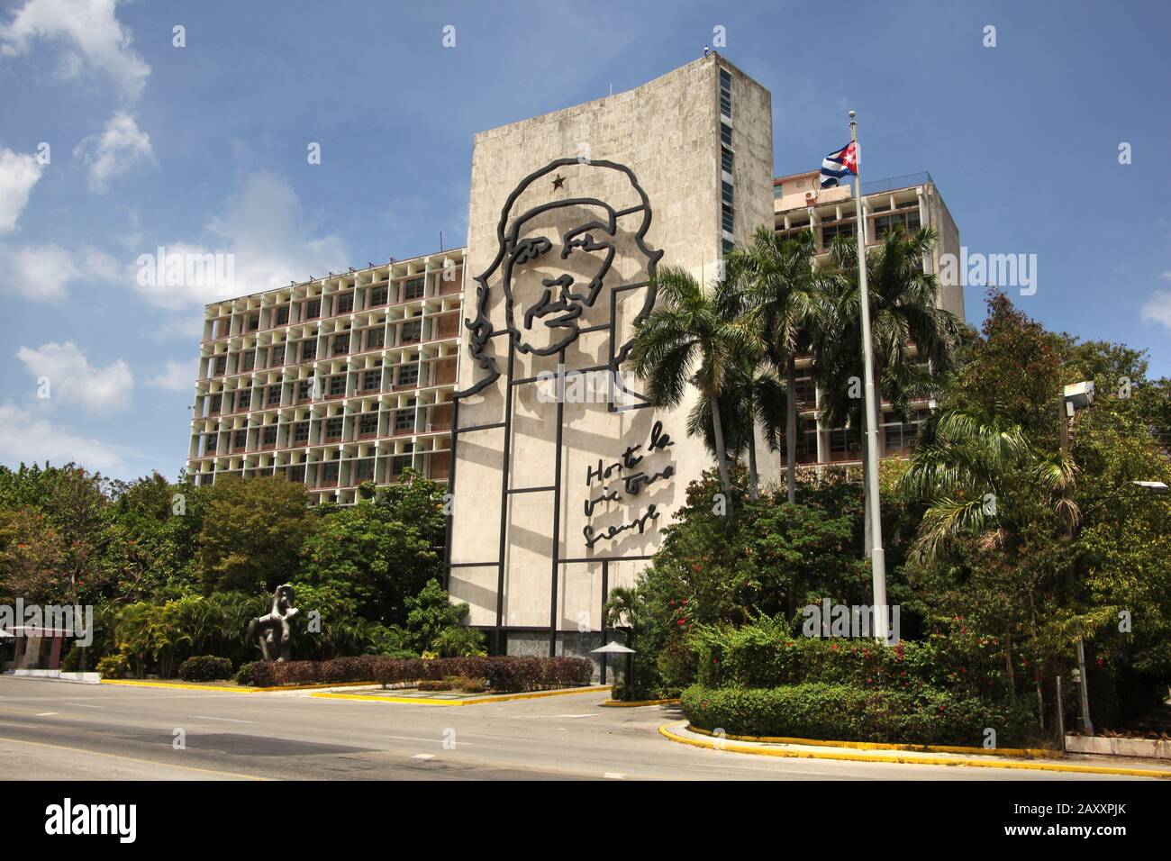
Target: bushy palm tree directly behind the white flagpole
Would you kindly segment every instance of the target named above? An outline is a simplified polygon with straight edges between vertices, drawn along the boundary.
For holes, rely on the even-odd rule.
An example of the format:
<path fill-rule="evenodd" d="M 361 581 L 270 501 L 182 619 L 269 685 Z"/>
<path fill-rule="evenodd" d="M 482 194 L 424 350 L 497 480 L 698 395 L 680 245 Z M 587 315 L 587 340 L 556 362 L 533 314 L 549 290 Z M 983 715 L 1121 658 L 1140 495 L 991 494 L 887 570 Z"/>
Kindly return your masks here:
<path fill-rule="evenodd" d="M 908 402 L 931 392 L 931 375 L 947 370 L 954 360 L 963 322 L 937 307 L 938 285 L 923 272 L 923 260 L 937 241 L 924 227 L 913 235 L 888 233 L 881 246 L 867 252 L 867 287 L 875 384 L 878 403 L 890 401 L 905 416 Z M 864 399 L 851 380 L 862 381 L 862 326 L 858 287 L 857 242 L 838 239 L 830 248 L 830 266 L 821 283 L 826 287 L 822 317 L 816 332 L 817 377 L 824 390 L 821 417 L 831 428 L 845 424 L 868 431 Z M 926 367 L 924 364 L 926 363 Z M 862 451 L 865 477 L 877 464 Z M 871 549 L 870 507 L 865 507 L 865 548 Z"/>

